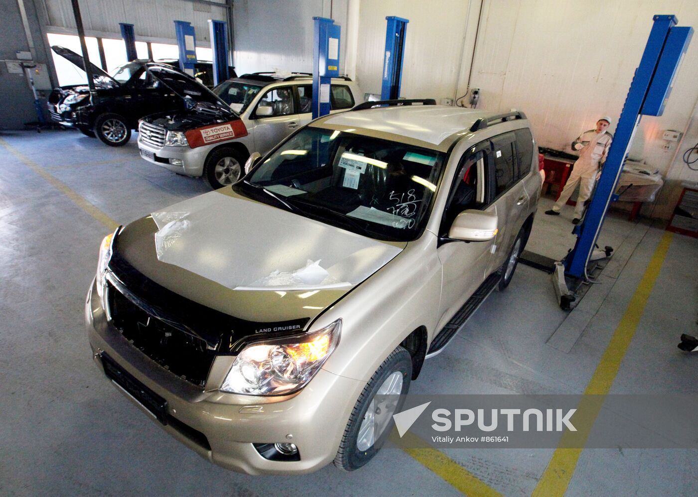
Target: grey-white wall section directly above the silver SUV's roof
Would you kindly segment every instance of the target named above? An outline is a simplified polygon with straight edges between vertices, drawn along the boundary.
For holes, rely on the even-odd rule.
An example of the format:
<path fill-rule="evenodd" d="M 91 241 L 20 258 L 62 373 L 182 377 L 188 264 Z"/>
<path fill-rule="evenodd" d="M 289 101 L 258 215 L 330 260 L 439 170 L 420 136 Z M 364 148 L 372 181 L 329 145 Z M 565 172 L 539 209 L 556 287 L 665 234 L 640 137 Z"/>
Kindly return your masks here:
<path fill-rule="evenodd" d="M 313 71 L 313 17 L 341 26 L 339 72 L 346 59 L 348 0 L 236 0 L 235 71 Z"/>

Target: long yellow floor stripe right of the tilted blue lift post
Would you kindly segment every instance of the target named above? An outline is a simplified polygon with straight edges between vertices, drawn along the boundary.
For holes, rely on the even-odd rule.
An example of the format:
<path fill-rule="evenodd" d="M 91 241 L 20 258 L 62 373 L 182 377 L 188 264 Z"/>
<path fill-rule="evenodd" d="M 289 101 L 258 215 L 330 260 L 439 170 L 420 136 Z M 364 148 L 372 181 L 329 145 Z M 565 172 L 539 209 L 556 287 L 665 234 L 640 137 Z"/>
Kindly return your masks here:
<path fill-rule="evenodd" d="M 671 232 L 664 232 L 664 236 L 662 236 L 662 240 L 660 240 L 642 276 L 642 280 L 637 286 L 628 307 L 625 309 L 621 322 L 611 337 L 611 342 L 609 342 L 599 365 L 597 365 L 591 380 L 586 386 L 586 390 L 584 390 L 585 397 L 582 398 L 579 406 L 577 406 L 577 411 L 584 413 L 584 416 L 580 419 L 579 425 L 577 420 L 574 422 L 578 430 L 577 434 L 571 434 L 571 432 L 566 431 L 560 438 L 558 448 L 555 450 L 547 468 L 545 468 L 542 477 L 533 490 L 532 496 L 563 496 L 567 491 L 583 449 L 566 448 L 565 445 L 567 447 L 573 445 L 570 443 L 573 439 L 586 441 L 603 404 L 603 396 L 607 395 L 609 390 L 611 390 L 611 385 L 613 385 L 616 374 L 618 374 L 621 362 L 623 362 L 628 346 L 632 342 L 632 337 L 635 334 L 635 330 L 637 330 L 647 304 L 647 299 L 652 293 L 655 281 L 662 269 L 662 263 L 664 263 L 664 259 L 667 257 L 672 237 L 673 234 Z M 578 442 L 577 447 L 579 447 Z"/>

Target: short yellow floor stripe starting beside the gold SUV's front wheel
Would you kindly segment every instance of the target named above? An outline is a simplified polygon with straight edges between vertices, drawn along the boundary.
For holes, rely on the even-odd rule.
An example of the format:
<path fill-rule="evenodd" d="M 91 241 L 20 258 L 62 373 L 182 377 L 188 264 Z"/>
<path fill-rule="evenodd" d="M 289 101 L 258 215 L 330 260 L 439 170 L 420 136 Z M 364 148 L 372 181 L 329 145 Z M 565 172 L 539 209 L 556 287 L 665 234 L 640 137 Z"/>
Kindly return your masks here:
<path fill-rule="evenodd" d="M 456 463 L 440 450 L 429 448 L 428 444 L 408 431 L 402 438 L 391 434 L 391 441 L 396 443 L 415 461 L 424 465 L 450 484 L 454 489 L 471 497 L 500 497 L 495 489 L 478 480 L 473 473 Z M 416 447 L 416 448 L 415 448 Z"/>

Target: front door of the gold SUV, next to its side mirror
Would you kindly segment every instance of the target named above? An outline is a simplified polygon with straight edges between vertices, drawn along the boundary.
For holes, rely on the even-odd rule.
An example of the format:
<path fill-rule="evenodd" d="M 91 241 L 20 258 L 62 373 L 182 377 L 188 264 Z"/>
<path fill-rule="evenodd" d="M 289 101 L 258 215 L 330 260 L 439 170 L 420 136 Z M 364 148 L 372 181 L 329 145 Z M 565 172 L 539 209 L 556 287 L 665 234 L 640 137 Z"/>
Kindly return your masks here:
<path fill-rule="evenodd" d="M 436 250 L 442 268 L 442 291 L 437 329 L 470 298 L 484 279 L 489 276 L 492 247 L 496 239 L 485 242 L 451 240 L 448 231 L 456 216 L 472 208 L 498 214 L 493 196 L 489 141 L 482 142 L 463 154 L 456 169 L 449 198 L 443 212 Z"/>

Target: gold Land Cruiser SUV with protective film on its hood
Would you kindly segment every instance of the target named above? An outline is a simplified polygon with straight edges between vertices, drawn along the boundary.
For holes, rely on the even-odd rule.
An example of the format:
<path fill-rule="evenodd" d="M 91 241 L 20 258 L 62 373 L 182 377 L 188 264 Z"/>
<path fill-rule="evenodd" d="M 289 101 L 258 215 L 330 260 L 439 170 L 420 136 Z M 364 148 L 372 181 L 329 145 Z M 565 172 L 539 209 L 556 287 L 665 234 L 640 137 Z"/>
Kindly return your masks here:
<path fill-rule="evenodd" d="M 399 403 L 383 394 L 406 394 L 511 281 L 541 188 L 530 124 L 366 102 L 246 170 L 103 240 L 85 305 L 94 360 L 225 468 L 354 470 L 392 427 Z"/>

